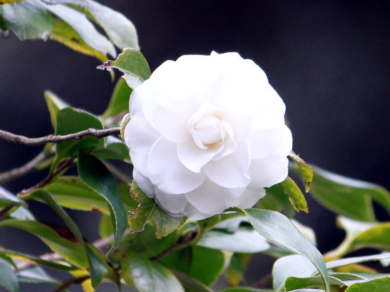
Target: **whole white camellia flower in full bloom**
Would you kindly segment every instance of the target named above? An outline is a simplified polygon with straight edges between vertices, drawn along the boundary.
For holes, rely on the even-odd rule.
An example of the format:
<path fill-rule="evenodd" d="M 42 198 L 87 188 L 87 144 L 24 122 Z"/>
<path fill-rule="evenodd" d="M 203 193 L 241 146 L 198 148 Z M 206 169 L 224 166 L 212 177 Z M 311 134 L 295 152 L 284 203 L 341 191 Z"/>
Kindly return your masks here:
<path fill-rule="evenodd" d="M 130 97 L 133 177 L 172 216 L 252 207 L 287 177 L 284 113 L 265 73 L 237 53 L 166 61 Z"/>

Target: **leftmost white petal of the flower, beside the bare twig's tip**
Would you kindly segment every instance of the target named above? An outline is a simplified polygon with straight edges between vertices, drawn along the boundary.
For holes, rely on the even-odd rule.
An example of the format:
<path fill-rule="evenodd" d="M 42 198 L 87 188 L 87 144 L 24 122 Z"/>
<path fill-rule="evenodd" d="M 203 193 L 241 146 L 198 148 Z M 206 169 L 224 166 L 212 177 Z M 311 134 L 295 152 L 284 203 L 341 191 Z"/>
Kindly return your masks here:
<path fill-rule="evenodd" d="M 149 151 L 160 136 L 146 120 L 142 111 L 137 112 L 125 128 L 125 143 L 130 148 L 132 163 L 144 176 L 147 176 L 146 162 Z"/>

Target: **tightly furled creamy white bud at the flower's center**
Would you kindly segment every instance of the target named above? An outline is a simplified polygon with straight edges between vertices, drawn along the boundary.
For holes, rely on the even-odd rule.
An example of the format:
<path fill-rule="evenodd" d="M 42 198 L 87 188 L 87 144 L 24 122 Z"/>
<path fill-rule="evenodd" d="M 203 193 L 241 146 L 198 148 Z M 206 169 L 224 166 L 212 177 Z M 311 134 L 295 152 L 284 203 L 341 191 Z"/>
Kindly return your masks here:
<path fill-rule="evenodd" d="M 199 140 L 204 145 L 223 141 L 227 134 L 221 120 L 212 115 L 205 115 L 201 117 L 195 124 L 195 130 Z"/>

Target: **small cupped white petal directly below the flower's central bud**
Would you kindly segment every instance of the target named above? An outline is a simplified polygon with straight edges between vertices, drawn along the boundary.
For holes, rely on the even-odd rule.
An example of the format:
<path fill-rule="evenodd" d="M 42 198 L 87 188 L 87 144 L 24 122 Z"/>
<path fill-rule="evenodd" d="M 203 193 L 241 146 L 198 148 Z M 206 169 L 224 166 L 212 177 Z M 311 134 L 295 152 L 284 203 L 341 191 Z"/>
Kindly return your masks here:
<path fill-rule="evenodd" d="M 223 148 L 208 147 L 201 149 L 195 145 L 192 137 L 187 137 L 177 144 L 177 156 L 185 167 L 194 172 L 200 172 L 203 165 L 208 163 Z"/>

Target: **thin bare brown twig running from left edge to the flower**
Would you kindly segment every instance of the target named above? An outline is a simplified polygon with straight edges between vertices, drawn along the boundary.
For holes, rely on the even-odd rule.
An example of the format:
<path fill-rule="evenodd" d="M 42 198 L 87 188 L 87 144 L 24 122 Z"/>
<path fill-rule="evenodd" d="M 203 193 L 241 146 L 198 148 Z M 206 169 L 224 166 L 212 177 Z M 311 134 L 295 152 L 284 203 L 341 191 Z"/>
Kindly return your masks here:
<path fill-rule="evenodd" d="M 78 133 L 68 134 L 68 135 L 47 135 L 40 138 L 28 138 L 21 135 L 15 135 L 10 132 L 0 130 L 0 139 L 7 142 L 16 143 L 19 145 L 25 146 L 40 146 L 45 145 L 46 143 L 61 143 L 69 140 L 79 140 L 84 137 L 97 137 L 103 138 L 111 135 L 119 135 L 120 128 L 110 128 L 110 129 L 87 129 Z"/>

